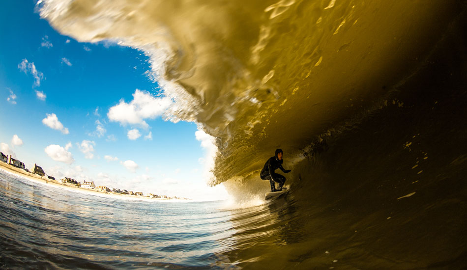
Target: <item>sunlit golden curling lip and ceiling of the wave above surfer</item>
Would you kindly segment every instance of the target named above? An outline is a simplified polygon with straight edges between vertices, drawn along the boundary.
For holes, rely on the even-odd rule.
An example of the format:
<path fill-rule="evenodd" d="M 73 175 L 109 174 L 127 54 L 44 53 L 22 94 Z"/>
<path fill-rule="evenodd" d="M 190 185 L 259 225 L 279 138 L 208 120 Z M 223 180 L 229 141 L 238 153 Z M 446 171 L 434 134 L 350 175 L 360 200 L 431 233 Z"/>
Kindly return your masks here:
<path fill-rule="evenodd" d="M 175 104 L 217 139 L 217 184 L 278 146 L 296 155 L 381 102 L 462 10 L 458 1 L 42 0 L 43 18 L 79 41 L 144 51 Z M 436 18 L 436 19 L 435 19 Z"/>

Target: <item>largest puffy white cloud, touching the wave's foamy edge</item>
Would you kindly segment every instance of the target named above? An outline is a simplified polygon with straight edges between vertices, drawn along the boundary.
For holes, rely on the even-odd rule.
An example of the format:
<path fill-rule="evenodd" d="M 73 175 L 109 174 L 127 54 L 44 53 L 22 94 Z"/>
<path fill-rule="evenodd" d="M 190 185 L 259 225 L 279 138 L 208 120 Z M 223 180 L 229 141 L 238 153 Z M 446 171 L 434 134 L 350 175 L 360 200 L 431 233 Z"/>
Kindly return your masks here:
<path fill-rule="evenodd" d="M 133 100 L 126 103 L 123 99 L 116 106 L 109 109 L 107 116 L 111 121 L 120 122 L 122 125 L 137 124 L 144 128 L 148 125 L 144 119 L 154 119 L 161 116 L 172 104 L 168 97 L 154 97 L 146 91 L 136 89 Z"/>

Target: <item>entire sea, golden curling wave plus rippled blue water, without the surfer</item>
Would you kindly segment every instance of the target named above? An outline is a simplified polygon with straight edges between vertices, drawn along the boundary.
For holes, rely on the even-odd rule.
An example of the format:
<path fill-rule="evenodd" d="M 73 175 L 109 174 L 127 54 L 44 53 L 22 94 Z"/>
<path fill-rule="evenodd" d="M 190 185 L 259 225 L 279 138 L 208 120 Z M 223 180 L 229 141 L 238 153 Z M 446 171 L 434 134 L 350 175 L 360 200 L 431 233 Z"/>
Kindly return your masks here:
<path fill-rule="evenodd" d="M 120 201 L 1 177 L 3 268 L 467 269 L 467 5 L 42 0 L 149 57 L 234 201 Z M 133 89 L 129 90 L 133 91 Z M 287 196 L 259 172 L 284 150 Z"/>

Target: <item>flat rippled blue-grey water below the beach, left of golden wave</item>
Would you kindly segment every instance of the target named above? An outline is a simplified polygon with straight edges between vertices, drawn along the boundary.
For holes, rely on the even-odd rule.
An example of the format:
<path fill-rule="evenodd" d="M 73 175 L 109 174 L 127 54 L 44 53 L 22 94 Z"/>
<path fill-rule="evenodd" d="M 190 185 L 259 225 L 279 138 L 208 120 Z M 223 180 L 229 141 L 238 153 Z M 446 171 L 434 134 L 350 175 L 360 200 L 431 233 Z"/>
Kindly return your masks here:
<path fill-rule="evenodd" d="M 219 203 L 124 201 L 54 189 L 0 171 L 1 265 L 235 269 Z M 40 258 L 40 259 L 38 259 Z M 65 263 L 67 262 L 67 263 Z M 54 267 L 53 267 L 54 268 Z"/>

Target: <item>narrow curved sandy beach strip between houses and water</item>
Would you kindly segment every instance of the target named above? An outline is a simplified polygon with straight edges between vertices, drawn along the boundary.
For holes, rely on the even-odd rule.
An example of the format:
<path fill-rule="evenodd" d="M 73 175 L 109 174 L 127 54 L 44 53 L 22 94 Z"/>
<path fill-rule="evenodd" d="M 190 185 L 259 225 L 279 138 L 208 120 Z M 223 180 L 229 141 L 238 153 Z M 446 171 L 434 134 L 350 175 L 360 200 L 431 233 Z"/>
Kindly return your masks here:
<path fill-rule="evenodd" d="M 148 200 L 148 201 L 160 201 L 160 202 L 187 202 L 191 200 L 180 200 L 180 199 L 167 199 L 167 198 L 151 198 L 151 197 L 146 197 L 146 196 L 138 196 L 138 195 L 127 195 L 127 194 L 119 194 L 119 193 L 114 193 L 114 192 L 108 192 L 108 191 L 98 191 L 95 189 L 86 189 L 86 188 L 80 188 L 76 187 L 71 184 L 66 184 L 66 183 L 61 183 L 59 180 L 52 180 L 49 179 L 47 176 L 40 176 L 34 173 L 27 172 L 23 169 L 17 168 L 11 164 L 1 162 L 0 161 L 0 169 L 5 171 L 6 173 L 14 174 L 16 176 L 23 177 L 29 181 L 32 182 L 39 182 L 41 184 L 45 185 L 50 185 L 52 187 L 56 188 L 65 188 L 70 191 L 75 191 L 75 192 L 84 192 L 88 193 L 90 195 L 96 195 L 96 196 L 105 196 L 105 197 L 112 197 L 112 198 L 117 198 L 117 199 L 131 199 L 131 200 Z"/>

